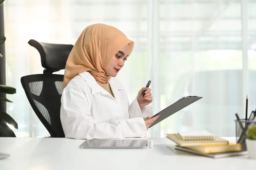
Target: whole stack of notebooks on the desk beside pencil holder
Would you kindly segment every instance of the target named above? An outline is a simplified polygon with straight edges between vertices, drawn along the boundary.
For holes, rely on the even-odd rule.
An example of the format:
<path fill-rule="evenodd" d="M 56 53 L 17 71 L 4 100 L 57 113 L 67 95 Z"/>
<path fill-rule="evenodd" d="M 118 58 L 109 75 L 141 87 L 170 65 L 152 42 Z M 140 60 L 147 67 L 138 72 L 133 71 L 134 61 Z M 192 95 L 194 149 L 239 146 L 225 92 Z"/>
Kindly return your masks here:
<path fill-rule="evenodd" d="M 179 132 L 167 134 L 167 137 L 177 144 L 176 150 L 183 152 L 213 158 L 247 154 L 247 151 L 242 151 L 241 144 L 231 143 L 208 131 Z"/>

